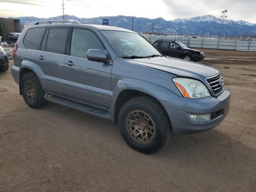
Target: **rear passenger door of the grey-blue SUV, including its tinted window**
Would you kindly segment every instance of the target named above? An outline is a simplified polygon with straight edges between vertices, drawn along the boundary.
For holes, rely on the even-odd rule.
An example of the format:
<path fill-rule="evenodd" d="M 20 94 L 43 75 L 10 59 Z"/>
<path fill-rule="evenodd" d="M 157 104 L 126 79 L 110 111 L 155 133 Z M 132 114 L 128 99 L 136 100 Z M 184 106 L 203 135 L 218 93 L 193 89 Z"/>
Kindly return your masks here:
<path fill-rule="evenodd" d="M 44 74 L 42 87 L 50 94 L 65 96 L 62 86 L 69 30 L 69 27 L 47 28 L 41 49 L 36 54 L 36 64 Z"/>

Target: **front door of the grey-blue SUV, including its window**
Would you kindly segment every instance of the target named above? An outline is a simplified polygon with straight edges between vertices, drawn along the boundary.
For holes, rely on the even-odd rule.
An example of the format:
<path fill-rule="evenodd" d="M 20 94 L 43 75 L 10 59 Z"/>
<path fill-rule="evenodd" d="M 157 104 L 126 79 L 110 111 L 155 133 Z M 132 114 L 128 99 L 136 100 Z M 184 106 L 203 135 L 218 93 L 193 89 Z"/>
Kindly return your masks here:
<path fill-rule="evenodd" d="M 73 28 L 69 44 L 70 54 L 66 56 L 64 65 L 66 94 L 84 104 L 108 109 L 112 63 L 87 59 L 89 49 L 103 50 L 108 58 L 104 45 L 92 30 L 85 28 Z"/>

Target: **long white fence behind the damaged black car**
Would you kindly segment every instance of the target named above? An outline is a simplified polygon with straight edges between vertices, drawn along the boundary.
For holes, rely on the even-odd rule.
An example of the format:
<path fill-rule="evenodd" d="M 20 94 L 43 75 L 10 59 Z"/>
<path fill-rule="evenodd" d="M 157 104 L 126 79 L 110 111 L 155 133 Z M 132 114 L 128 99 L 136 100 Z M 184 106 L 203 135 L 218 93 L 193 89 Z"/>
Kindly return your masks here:
<path fill-rule="evenodd" d="M 192 38 L 180 36 L 145 36 L 147 40 L 153 42 L 159 39 L 176 40 L 184 43 L 188 47 L 194 48 L 210 48 L 210 49 L 228 49 L 228 50 L 256 50 L 256 41 L 241 41 L 241 40 L 223 40 L 210 38 Z"/>

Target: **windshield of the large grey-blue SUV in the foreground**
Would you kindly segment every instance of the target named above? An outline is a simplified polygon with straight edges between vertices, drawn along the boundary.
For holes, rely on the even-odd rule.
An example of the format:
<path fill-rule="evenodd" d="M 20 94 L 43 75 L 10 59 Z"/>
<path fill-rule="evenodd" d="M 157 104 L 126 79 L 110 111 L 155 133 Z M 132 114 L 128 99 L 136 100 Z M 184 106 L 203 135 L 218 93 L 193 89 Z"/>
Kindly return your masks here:
<path fill-rule="evenodd" d="M 123 58 L 148 57 L 162 54 L 137 33 L 101 30 L 118 56 Z"/>

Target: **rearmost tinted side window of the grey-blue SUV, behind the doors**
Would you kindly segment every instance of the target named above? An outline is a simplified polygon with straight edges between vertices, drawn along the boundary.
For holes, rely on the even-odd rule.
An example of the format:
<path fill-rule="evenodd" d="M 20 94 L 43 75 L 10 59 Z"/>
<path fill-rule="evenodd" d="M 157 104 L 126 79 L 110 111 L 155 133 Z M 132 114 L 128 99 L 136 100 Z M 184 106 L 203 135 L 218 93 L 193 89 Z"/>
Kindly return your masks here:
<path fill-rule="evenodd" d="M 39 50 L 45 27 L 29 29 L 23 43 L 26 48 Z"/>

